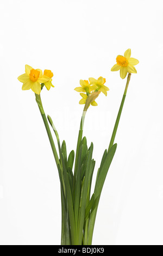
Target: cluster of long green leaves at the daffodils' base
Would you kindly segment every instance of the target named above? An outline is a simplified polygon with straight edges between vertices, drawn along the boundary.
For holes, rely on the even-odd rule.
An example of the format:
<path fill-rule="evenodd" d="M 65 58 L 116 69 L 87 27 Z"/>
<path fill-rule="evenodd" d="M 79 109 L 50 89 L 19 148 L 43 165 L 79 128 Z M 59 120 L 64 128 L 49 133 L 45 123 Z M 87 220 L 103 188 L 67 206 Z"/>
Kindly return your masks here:
<path fill-rule="evenodd" d="M 95 169 L 95 160 L 92 159 L 93 143 L 88 148 L 86 137 L 82 138 L 83 131 L 79 131 L 73 172 L 74 151 L 72 150 L 67 157 L 65 141 L 60 146 L 58 133 L 49 116 L 48 120 L 57 137 L 60 156 L 57 166 L 61 184 L 61 245 L 91 245 L 99 198 L 117 145 L 114 144 L 110 150 L 104 151 L 94 192 L 91 195 L 92 176 Z"/>

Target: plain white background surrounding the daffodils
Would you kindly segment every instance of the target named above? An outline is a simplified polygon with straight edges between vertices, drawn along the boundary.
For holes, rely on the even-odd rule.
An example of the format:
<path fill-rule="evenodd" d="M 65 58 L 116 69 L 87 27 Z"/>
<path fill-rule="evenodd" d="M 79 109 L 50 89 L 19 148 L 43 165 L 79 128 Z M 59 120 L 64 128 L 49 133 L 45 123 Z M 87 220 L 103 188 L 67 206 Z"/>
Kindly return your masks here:
<path fill-rule="evenodd" d="M 93 245 L 162 245 L 162 1 L 5 0 L 0 12 L 0 244 L 60 244 L 59 176 L 34 93 L 17 80 L 24 65 L 54 72 L 55 88 L 43 88 L 41 97 L 68 153 L 76 149 L 83 111 L 74 88 L 80 79 L 106 78 L 108 96 L 99 95 L 84 127 L 96 174 L 126 83 L 110 69 L 131 48 L 140 64 L 131 75 Z"/>

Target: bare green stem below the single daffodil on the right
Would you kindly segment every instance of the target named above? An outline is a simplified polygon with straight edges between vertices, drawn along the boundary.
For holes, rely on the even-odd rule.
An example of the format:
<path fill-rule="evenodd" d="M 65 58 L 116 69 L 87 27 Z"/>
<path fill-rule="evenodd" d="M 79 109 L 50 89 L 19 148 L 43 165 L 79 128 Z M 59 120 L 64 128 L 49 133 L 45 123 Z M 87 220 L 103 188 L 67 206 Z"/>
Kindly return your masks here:
<path fill-rule="evenodd" d="M 128 89 L 130 77 L 131 77 L 131 74 L 129 73 L 129 74 L 128 74 L 128 77 L 127 77 L 126 88 L 125 88 L 125 90 L 124 90 L 124 94 L 123 94 L 122 101 L 121 101 L 121 106 L 120 106 L 120 109 L 119 109 L 119 111 L 118 111 L 117 119 L 116 119 L 116 122 L 115 122 L 114 130 L 112 131 L 112 136 L 111 136 L 111 140 L 110 140 L 110 144 L 109 144 L 109 149 L 108 149 L 108 151 L 111 149 L 112 145 L 114 144 L 114 140 L 115 140 L 115 136 L 116 136 L 118 124 L 119 124 L 119 121 L 120 121 L 120 117 L 121 117 L 121 113 L 122 113 L 124 101 L 125 101 L 125 99 L 126 99 L 126 94 L 127 94 L 127 89 Z"/>

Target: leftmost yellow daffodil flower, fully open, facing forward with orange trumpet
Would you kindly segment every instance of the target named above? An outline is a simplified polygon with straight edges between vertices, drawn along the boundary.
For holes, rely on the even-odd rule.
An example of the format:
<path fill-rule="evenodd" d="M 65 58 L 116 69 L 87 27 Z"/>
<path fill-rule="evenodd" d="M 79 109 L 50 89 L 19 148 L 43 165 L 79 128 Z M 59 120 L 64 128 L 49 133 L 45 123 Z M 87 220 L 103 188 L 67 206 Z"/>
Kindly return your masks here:
<path fill-rule="evenodd" d="M 19 76 L 18 81 L 23 83 L 22 90 L 32 89 L 34 93 L 41 93 L 41 84 L 50 80 L 48 76 L 42 75 L 41 69 L 33 69 L 32 66 L 25 66 L 26 73 Z"/>

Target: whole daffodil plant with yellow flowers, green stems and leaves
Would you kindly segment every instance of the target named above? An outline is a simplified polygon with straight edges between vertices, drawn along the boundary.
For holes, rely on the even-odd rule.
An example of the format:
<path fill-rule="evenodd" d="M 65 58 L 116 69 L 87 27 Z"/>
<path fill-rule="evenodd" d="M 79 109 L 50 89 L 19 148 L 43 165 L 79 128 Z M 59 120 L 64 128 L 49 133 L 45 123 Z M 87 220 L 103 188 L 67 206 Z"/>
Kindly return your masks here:
<path fill-rule="evenodd" d="M 79 103 L 84 105 L 84 111 L 79 127 L 76 154 L 74 150 L 72 150 L 67 156 L 66 143 L 63 141 L 62 144 L 60 144 L 59 135 L 55 129 L 52 118 L 49 115 L 47 115 L 46 118 L 40 96 L 44 86 L 47 90 L 54 87 L 52 84 L 53 73 L 51 70 L 42 72 L 40 69 L 33 69 L 32 66 L 26 65 L 25 74 L 18 77 L 18 80 L 23 83 L 22 90 L 32 89 L 35 93 L 36 102 L 39 106 L 49 142 L 51 143 L 54 159 L 57 164 L 61 190 L 61 245 L 92 244 L 99 199 L 101 197 L 106 174 L 108 173 L 117 148 L 117 144 L 114 144 L 114 141 L 131 73 L 136 73 L 134 66 L 139 63 L 137 59 L 130 58 L 130 56 L 130 49 L 124 52 L 124 56 L 118 55 L 116 58 L 117 64 L 111 69 L 111 71 L 120 70 L 122 79 L 124 79 L 127 74 L 128 77 L 115 126 L 112 131 L 109 148 L 104 151 L 92 194 L 92 176 L 93 170 L 95 169 L 95 160 L 92 159 L 93 143 L 91 143 L 90 147 L 87 146 L 86 137 L 83 137 L 83 126 L 85 115 L 90 105 L 97 106 L 95 100 L 99 94 L 103 93 L 107 96 L 109 88 L 104 85 L 106 82 L 105 78 L 99 77 L 96 80 L 90 77 L 89 80 L 80 80 L 80 87 L 74 89 L 82 96 Z M 55 148 L 48 121 L 57 138 L 58 151 Z"/>

